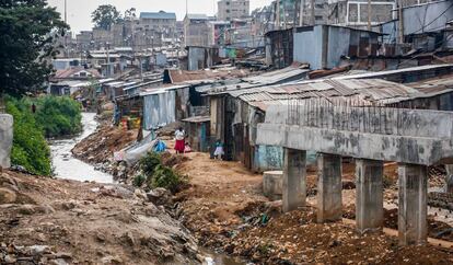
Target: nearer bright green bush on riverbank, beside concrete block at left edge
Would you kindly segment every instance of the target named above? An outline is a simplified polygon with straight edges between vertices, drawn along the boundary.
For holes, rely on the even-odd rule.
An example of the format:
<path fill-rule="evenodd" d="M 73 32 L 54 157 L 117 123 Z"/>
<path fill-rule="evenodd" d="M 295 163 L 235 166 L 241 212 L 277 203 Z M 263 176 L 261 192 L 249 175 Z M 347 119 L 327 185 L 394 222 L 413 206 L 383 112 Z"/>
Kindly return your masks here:
<path fill-rule="evenodd" d="M 39 175 L 50 175 L 50 150 L 43 127 L 24 101 L 7 100 L 7 113 L 14 117 L 14 139 L 11 162 Z"/>

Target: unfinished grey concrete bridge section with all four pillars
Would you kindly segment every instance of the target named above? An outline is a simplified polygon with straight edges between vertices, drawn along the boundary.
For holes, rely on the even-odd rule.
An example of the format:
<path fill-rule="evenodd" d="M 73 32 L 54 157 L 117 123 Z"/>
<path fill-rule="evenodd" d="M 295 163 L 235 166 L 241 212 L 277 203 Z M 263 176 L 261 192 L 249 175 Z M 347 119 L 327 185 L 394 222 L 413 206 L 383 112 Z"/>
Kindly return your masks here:
<path fill-rule="evenodd" d="M 383 227 L 383 163 L 398 162 L 398 238 L 427 241 L 427 166 L 453 163 L 453 113 L 323 101 L 270 106 L 257 145 L 284 148 L 283 211 L 305 205 L 306 150 L 317 154 L 317 221 L 341 219 L 341 157 L 356 159 L 356 223 Z"/>

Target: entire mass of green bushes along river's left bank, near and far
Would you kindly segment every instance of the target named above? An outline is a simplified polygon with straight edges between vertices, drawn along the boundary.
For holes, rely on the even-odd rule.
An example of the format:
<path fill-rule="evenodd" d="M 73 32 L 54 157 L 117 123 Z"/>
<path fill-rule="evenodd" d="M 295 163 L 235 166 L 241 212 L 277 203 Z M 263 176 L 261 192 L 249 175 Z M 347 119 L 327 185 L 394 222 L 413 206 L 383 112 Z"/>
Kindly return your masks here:
<path fill-rule="evenodd" d="M 32 112 L 35 104 L 36 112 Z M 51 174 L 50 150 L 46 136 L 65 136 L 80 131 L 79 103 L 70 97 L 38 99 L 8 96 L 7 113 L 14 117 L 11 162 L 39 175 Z"/>

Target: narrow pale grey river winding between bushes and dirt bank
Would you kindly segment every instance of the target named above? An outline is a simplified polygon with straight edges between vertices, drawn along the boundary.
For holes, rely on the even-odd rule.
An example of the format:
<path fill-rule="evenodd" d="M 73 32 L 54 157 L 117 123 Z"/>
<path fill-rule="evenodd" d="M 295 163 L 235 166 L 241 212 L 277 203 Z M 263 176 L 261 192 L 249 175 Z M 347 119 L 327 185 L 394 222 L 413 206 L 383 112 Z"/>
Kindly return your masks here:
<path fill-rule="evenodd" d="M 83 138 L 93 134 L 97 128 L 95 113 L 82 113 L 83 130 L 76 137 L 50 140 L 54 174 L 59 178 L 73 181 L 94 181 L 97 183 L 113 183 L 111 174 L 94 170 L 94 166 L 76 159 L 71 150 Z"/>

